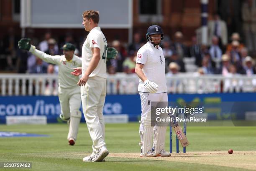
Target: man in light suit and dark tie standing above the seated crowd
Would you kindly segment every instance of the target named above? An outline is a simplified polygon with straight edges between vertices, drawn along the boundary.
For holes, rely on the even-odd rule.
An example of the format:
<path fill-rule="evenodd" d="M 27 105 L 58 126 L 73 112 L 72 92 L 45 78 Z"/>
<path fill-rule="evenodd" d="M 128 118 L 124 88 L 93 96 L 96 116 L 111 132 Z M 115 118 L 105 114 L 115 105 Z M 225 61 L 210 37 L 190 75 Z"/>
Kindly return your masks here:
<path fill-rule="evenodd" d="M 227 25 L 223 20 L 220 20 L 220 16 L 215 14 L 213 20 L 208 22 L 208 29 L 209 29 L 209 45 L 211 44 L 211 40 L 213 36 L 218 37 L 219 39 L 219 46 L 222 49 L 223 46 L 227 45 L 228 43 L 228 31 Z"/>

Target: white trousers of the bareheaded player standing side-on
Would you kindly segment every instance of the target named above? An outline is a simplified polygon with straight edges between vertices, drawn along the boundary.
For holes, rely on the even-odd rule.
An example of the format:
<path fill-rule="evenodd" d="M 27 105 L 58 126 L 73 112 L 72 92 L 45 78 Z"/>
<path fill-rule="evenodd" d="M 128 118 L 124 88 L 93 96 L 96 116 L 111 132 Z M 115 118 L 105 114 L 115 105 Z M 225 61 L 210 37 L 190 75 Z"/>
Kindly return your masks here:
<path fill-rule="evenodd" d="M 105 146 L 105 123 L 103 106 L 106 97 L 107 81 L 100 77 L 89 77 L 81 87 L 81 99 L 84 118 L 92 139 L 92 154 Z"/>

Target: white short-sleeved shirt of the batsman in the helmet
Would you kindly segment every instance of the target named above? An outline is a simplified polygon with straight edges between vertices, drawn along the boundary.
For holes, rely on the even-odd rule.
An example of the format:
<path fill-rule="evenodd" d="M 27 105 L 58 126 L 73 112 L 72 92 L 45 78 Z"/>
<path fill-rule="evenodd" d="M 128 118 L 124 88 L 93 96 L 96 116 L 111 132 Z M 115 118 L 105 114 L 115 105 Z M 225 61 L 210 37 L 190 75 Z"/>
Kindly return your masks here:
<path fill-rule="evenodd" d="M 147 42 L 138 50 L 136 63 L 143 64 L 143 73 L 149 81 L 156 83 L 159 89 L 156 93 L 167 92 L 165 79 L 165 59 L 161 47 L 154 47 L 150 42 Z M 144 82 L 140 79 L 138 85 L 139 92 L 147 92 L 144 87 Z"/>

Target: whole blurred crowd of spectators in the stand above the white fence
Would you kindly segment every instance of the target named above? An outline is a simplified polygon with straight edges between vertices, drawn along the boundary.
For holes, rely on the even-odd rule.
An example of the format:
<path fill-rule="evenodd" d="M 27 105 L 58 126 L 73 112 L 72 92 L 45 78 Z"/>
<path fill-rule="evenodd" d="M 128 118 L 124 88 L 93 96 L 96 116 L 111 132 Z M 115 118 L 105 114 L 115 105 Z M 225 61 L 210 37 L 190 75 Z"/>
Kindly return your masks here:
<path fill-rule="evenodd" d="M 161 45 L 166 59 L 166 74 L 178 74 L 180 72 L 192 72 L 184 63 L 185 58 L 195 59 L 195 69 L 201 74 L 230 73 L 252 75 L 256 74 L 254 59 L 250 55 L 256 52 L 256 21 L 254 14 L 256 9 L 252 7 L 251 0 L 245 1 L 241 7 L 243 19 L 243 37 L 238 32 L 228 34 L 225 21 L 215 14 L 208 21 L 208 43 L 201 45 L 196 35 L 191 38 L 191 44 L 184 43 L 184 35 L 177 31 L 174 35 L 164 35 Z M 61 55 L 62 45 L 67 42 L 73 43 L 77 49 L 75 54 L 81 56 L 81 47 L 84 40 L 74 40 L 72 34 L 67 34 L 64 41 L 57 42 L 50 32 L 46 32 L 44 40 L 38 41 L 33 37 L 33 30 L 26 31 L 26 37 L 31 38 L 31 43 L 37 49 L 50 55 Z M 231 36 L 228 36 L 231 35 Z M 8 34 L 0 42 L 0 70 L 17 73 L 57 73 L 58 68 L 47 64 L 31 53 L 19 50 L 18 40 L 14 29 L 10 28 Z M 109 74 L 135 72 L 135 59 L 138 49 L 146 43 L 145 35 L 140 32 L 133 34 L 133 42 L 127 44 L 114 40 L 108 42 L 109 46 L 118 50 L 116 59 L 107 62 Z"/>

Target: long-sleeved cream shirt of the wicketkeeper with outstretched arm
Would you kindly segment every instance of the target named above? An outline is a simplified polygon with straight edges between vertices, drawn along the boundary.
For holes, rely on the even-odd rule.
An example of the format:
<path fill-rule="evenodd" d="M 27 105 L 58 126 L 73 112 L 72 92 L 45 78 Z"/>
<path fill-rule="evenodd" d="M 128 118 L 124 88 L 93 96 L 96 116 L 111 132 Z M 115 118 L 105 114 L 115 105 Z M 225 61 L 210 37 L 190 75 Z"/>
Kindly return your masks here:
<path fill-rule="evenodd" d="M 45 62 L 59 66 L 59 87 L 64 89 L 77 87 L 79 77 L 72 75 L 71 72 L 74 71 L 74 68 L 82 66 L 82 60 L 80 57 L 74 55 L 72 60 L 67 61 L 64 55 L 51 56 L 35 49 L 34 46 L 31 46 L 29 52 L 31 52 L 36 57 L 41 58 Z"/>

